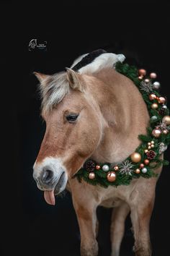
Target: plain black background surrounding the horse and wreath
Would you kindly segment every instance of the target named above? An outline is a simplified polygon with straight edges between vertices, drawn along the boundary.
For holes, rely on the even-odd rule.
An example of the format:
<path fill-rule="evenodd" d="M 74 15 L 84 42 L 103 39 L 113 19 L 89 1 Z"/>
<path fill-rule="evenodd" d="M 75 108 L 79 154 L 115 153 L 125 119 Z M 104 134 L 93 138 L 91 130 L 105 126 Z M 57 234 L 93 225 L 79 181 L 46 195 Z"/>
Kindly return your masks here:
<path fill-rule="evenodd" d="M 156 72 L 161 93 L 170 101 L 170 6 L 153 1 L 8 1 L 1 6 L 1 137 L 5 142 L 1 146 L 2 255 L 77 256 L 80 236 L 71 196 L 66 193 L 58 197 L 55 207 L 47 205 L 32 179 L 32 165 L 45 132 L 39 116 L 37 80 L 32 72 L 59 72 L 70 67 L 80 54 L 104 48 L 125 54 L 130 64 Z M 47 40 L 47 51 L 28 51 L 32 38 Z M 167 150 L 166 158 L 169 153 Z M 99 208 L 97 214 L 99 255 L 107 256 L 111 210 Z M 169 216 L 168 166 L 156 187 L 151 218 L 153 256 L 169 255 Z M 128 218 L 121 255 L 133 255 L 132 247 Z"/>

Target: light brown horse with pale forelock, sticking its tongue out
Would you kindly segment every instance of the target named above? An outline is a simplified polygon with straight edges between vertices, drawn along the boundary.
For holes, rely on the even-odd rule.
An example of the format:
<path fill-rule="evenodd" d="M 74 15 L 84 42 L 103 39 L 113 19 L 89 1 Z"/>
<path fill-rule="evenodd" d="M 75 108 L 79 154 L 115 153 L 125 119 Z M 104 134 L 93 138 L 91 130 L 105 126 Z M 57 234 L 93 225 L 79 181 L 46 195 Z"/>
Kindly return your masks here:
<path fill-rule="evenodd" d="M 114 69 L 79 74 L 72 69 L 54 75 L 35 73 L 40 80 L 45 137 L 34 165 L 37 187 L 45 200 L 67 188 L 81 232 L 81 256 L 97 256 L 98 205 L 112 212 L 112 256 L 120 254 L 125 218 L 130 213 L 135 255 L 151 256 L 149 223 L 156 178 L 134 179 L 128 186 L 104 189 L 71 179 L 87 158 L 120 163 L 146 134 L 148 111 L 133 82 Z M 161 168 L 156 170 L 161 173 Z M 147 196 L 146 196 L 147 195 Z"/>

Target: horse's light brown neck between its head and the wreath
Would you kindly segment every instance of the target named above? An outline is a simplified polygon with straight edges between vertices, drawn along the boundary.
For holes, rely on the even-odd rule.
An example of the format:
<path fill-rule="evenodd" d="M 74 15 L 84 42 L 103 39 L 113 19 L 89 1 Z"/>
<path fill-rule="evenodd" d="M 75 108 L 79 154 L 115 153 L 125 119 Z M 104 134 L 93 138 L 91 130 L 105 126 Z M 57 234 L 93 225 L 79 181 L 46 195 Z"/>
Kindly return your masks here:
<path fill-rule="evenodd" d="M 108 125 L 92 158 L 118 163 L 138 147 L 138 135 L 146 134 L 148 111 L 140 92 L 127 77 L 114 70 L 104 70 L 97 78 L 105 83 L 105 90 L 99 92 L 99 105 Z"/>

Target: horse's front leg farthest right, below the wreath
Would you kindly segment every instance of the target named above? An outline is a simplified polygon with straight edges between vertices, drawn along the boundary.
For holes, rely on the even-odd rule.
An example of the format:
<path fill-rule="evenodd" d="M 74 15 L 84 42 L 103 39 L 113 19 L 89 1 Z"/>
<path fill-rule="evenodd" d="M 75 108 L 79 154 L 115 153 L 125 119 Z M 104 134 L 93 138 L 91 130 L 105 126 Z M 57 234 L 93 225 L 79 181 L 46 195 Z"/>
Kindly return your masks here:
<path fill-rule="evenodd" d="M 130 202 L 130 218 L 135 237 L 135 255 L 151 256 L 149 223 L 154 205 L 155 185 L 146 182 L 144 187 L 139 186 L 138 190 L 134 190 L 131 196 L 133 200 Z"/>

